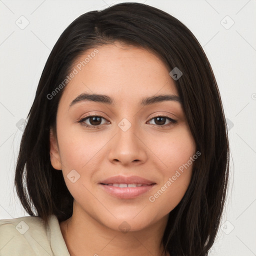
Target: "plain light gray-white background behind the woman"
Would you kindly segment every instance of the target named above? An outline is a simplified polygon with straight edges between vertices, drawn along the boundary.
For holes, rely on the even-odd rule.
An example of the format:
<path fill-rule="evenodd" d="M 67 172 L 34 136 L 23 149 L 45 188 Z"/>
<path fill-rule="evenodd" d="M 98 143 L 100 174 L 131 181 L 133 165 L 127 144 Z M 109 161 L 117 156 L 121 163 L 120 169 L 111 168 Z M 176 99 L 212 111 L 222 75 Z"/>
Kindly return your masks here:
<path fill-rule="evenodd" d="M 0 0 L 0 219 L 28 215 L 13 186 L 22 134 L 17 126 L 26 118 L 51 48 L 77 16 L 118 2 L 124 1 Z M 137 2 L 183 22 L 203 46 L 218 82 L 231 162 L 225 214 L 210 255 L 256 255 L 256 0 Z"/>

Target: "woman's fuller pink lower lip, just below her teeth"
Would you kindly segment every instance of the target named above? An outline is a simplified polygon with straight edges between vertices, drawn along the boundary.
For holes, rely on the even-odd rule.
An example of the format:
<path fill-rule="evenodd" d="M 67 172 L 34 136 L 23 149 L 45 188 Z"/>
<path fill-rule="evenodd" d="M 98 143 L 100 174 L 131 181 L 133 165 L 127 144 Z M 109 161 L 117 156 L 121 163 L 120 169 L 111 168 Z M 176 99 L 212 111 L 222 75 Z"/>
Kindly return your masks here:
<path fill-rule="evenodd" d="M 146 186 L 137 186 L 137 187 L 118 187 L 118 186 L 110 186 L 103 185 L 100 186 L 110 195 L 115 196 L 121 199 L 131 199 L 135 198 L 147 191 L 149 191 L 155 184 L 146 185 Z"/>

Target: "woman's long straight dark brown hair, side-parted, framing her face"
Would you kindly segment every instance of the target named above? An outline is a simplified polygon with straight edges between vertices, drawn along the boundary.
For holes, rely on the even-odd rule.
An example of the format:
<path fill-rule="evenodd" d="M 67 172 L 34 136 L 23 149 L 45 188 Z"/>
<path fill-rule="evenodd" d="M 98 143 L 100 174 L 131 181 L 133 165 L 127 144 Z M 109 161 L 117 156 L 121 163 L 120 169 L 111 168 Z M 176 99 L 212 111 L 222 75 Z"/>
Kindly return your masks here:
<path fill-rule="evenodd" d="M 191 181 L 170 212 L 163 235 L 165 252 L 202 256 L 215 239 L 226 196 L 229 147 L 223 108 L 209 61 L 191 31 L 170 14 L 141 3 L 120 3 L 76 18 L 60 35 L 42 71 L 27 116 L 16 164 L 15 186 L 28 214 L 47 222 L 72 215 L 73 197 L 61 171 L 50 163 L 49 128 L 55 127 L 59 99 L 49 95 L 85 50 L 122 41 L 155 52 L 182 76 L 175 80 L 189 128 L 201 152 Z"/>

